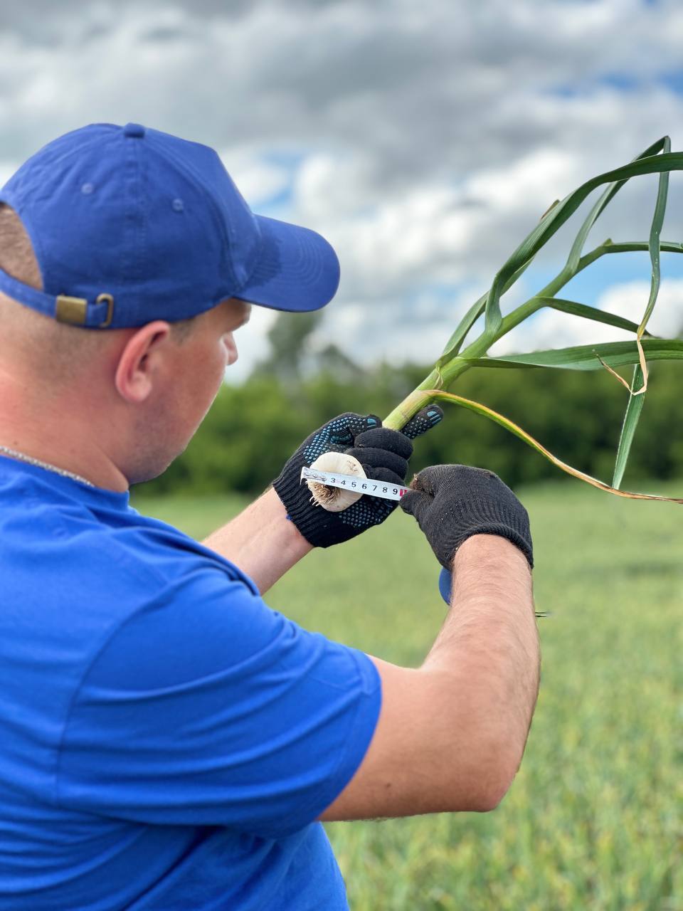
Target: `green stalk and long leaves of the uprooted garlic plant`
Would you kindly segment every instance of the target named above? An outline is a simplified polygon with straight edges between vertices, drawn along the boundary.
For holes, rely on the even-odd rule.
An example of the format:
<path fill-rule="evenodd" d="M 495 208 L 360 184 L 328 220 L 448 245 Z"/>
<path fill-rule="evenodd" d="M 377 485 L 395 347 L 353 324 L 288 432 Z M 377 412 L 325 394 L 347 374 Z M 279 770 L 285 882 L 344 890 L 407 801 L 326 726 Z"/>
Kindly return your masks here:
<path fill-rule="evenodd" d="M 683 503 L 683 499 L 634 494 L 620 489 L 624 470 L 627 466 L 628 453 L 647 392 L 647 363 L 656 360 L 683 359 L 683 341 L 661 339 L 647 332 L 647 322 L 658 297 L 660 251 L 683 252 L 683 244 L 660 240 L 660 231 L 667 205 L 668 172 L 683 169 L 683 152 L 671 152 L 670 148 L 671 143 L 668 137 L 659 139 L 658 142 L 647 148 L 629 164 L 607 171 L 605 174 L 600 174 L 586 181 L 581 187 L 566 196 L 564 200 L 558 200 L 553 203 L 535 229 L 519 245 L 500 271 L 496 273 L 489 291 L 478 301 L 474 302 L 470 310 L 465 313 L 464 318 L 456 327 L 448 343 L 446 343 L 441 357 L 434 364 L 432 372 L 425 377 L 423 383 L 413 393 L 408 395 L 392 411 L 391 415 L 388 415 L 382 422 L 383 426 L 400 430 L 425 405 L 434 401 L 453 402 L 504 426 L 511 433 L 523 439 L 525 443 L 533 446 L 537 452 L 544 455 L 554 465 L 568 474 L 586 481 L 588 484 L 618 496 Z M 588 233 L 600 214 L 605 210 L 609 202 L 614 199 L 627 180 L 639 175 L 654 173 L 659 174 L 658 196 L 648 240 L 628 241 L 626 243 L 613 243 L 611 240 L 607 240 L 599 244 L 594 250 L 584 253 Z M 586 200 L 588 194 L 601 186 L 605 186 L 605 189 L 588 212 L 586 220 L 584 220 L 576 234 L 576 240 L 569 251 L 565 266 L 552 281 L 545 285 L 545 288 L 539 290 L 533 297 L 504 317 L 500 309 L 501 295 L 512 287 L 534 260 L 535 254 L 576 211 L 581 203 Z M 630 251 L 649 251 L 652 266 L 649 299 L 644 308 L 643 318 L 638 324 L 612 313 L 598 310 L 596 307 L 567 301 L 556 296 L 570 279 L 600 257 Z M 487 356 L 486 352 L 491 345 L 543 307 L 552 307 L 556 310 L 571 313 L 580 319 L 603 322 L 619 329 L 629 330 L 635 333 L 635 338 L 633 342 L 580 345 L 571 348 L 514 354 L 497 358 Z M 470 341 L 470 331 L 482 314 L 484 314 L 484 331 L 477 338 Z M 466 339 L 469 343 L 466 347 L 463 347 Z M 617 367 L 629 364 L 634 365 L 631 384 L 627 384 L 616 373 Z M 521 427 L 515 425 L 505 416 L 487 408 L 484 404 L 472 402 L 460 395 L 445 391 L 465 371 L 474 367 L 502 370 L 538 370 L 543 367 L 562 370 L 601 370 L 605 368 L 611 374 L 614 374 L 621 383 L 627 385 L 629 391 L 628 404 L 617 447 L 612 484 L 608 485 L 595 477 L 578 471 L 572 466 L 566 465 L 555 455 L 548 452 L 543 445 L 538 443 Z"/>

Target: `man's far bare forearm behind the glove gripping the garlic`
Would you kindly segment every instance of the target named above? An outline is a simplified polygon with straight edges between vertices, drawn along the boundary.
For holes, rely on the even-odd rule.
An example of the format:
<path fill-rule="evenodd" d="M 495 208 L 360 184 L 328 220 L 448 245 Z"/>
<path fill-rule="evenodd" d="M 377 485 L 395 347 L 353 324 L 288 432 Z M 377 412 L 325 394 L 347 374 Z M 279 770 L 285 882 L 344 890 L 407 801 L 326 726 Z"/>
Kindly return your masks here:
<path fill-rule="evenodd" d="M 272 488 L 202 543 L 252 578 L 261 594 L 312 550 Z"/>

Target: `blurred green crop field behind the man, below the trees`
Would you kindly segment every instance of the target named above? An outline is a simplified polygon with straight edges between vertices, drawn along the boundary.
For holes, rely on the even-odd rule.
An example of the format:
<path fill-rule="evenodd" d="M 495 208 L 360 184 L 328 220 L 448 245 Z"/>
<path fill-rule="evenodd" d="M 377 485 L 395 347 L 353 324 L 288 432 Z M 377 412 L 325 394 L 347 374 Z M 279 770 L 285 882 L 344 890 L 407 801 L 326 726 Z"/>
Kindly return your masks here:
<path fill-rule="evenodd" d="M 651 485 L 683 496 L 683 482 Z M 648 489 L 641 486 L 640 489 Z M 525 759 L 490 814 L 335 823 L 353 911 L 683 911 L 683 507 L 569 482 L 531 516 L 543 648 Z M 138 500 L 203 537 L 240 503 Z M 266 600 L 311 630 L 415 665 L 443 620 L 411 519 L 314 551 Z"/>

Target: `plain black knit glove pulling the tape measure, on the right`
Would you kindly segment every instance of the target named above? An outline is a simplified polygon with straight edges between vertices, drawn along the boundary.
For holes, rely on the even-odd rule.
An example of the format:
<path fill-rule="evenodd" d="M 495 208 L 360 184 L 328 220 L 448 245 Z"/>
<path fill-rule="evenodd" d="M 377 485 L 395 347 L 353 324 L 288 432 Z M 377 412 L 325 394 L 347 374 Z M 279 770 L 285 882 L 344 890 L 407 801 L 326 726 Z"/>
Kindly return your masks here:
<path fill-rule="evenodd" d="M 416 475 L 411 487 L 401 508 L 417 519 L 444 568 L 450 570 L 455 551 L 472 535 L 506 537 L 534 567 L 528 514 L 493 471 L 437 465 Z"/>

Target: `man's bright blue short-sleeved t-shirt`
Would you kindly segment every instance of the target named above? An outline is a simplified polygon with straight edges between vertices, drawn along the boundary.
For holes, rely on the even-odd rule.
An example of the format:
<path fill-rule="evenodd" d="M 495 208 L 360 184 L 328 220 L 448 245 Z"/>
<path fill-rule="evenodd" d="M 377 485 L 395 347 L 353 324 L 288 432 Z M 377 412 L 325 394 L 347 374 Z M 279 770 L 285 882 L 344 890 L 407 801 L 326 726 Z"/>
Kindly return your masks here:
<path fill-rule="evenodd" d="M 315 820 L 380 703 L 127 493 L 0 456 L 1 911 L 347 908 Z"/>

